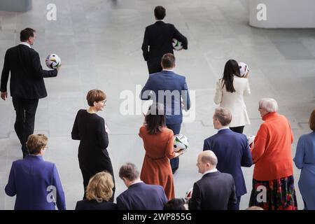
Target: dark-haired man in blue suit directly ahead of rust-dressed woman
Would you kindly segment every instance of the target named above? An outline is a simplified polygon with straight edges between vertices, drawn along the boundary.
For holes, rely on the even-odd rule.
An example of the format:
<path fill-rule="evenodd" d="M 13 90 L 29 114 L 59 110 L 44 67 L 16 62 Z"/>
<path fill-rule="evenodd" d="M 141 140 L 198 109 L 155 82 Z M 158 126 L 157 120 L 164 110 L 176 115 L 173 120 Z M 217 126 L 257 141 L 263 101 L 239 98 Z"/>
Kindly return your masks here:
<path fill-rule="evenodd" d="M 162 71 L 153 73 L 141 90 L 141 99 L 153 99 L 153 102 L 164 104 L 166 125 L 173 130 L 174 135 L 181 131 L 183 109 L 190 109 L 190 97 L 186 77 L 174 73 L 175 57 L 171 53 L 163 55 L 161 60 Z M 179 169 L 179 158 L 171 160 L 172 172 Z"/>

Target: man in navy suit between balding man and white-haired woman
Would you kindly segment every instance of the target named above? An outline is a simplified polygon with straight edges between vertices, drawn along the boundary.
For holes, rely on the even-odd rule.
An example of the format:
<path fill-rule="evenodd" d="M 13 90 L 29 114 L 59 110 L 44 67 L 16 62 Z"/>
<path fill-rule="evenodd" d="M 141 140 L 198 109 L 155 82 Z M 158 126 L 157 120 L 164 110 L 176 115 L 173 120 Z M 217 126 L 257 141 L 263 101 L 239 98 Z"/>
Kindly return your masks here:
<path fill-rule="evenodd" d="M 246 136 L 232 132 L 228 125 L 232 114 L 228 109 L 219 107 L 214 112 L 214 128 L 217 134 L 204 140 L 204 151 L 214 151 L 218 158 L 217 169 L 232 174 L 235 181 L 237 204 L 229 206 L 230 210 L 239 210 L 241 195 L 245 195 L 246 186 L 241 167 L 251 167 L 253 160 Z"/>

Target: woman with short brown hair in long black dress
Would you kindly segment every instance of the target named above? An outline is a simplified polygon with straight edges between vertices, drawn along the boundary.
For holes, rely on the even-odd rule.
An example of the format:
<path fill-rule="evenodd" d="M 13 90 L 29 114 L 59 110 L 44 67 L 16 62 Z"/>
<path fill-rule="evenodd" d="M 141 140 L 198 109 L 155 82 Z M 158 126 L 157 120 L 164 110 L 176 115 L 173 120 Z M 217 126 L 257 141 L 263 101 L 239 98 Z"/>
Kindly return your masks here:
<path fill-rule="evenodd" d="M 83 176 L 83 198 L 87 184 L 94 174 L 107 171 L 113 176 L 113 166 L 106 150 L 109 146 L 108 130 L 104 118 L 97 115 L 97 112 L 103 111 L 106 105 L 106 94 L 102 90 L 90 90 L 86 98 L 90 108 L 78 111 L 71 132 L 72 139 L 80 140 L 78 160 Z M 115 186 L 110 201 L 113 201 L 114 193 Z"/>

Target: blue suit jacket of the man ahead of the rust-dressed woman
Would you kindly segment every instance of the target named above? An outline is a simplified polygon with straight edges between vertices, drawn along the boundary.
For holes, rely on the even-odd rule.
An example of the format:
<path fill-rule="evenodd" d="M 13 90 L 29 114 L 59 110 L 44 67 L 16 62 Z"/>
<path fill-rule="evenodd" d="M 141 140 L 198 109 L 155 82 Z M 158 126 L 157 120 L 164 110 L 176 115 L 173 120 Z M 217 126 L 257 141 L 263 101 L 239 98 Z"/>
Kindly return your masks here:
<path fill-rule="evenodd" d="M 154 97 L 148 94 L 150 90 L 154 92 Z M 169 100 L 167 100 L 167 97 L 162 99 L 162 97 L 159 97 L 159 90 L 169 90 L 171 92 L 176 90 L 178 94 L 174 94 L 174 97 L 168 94 Z M 186 111 L 190 109 L 190 97 L 186 78 L 185 76 L 180 76 L 173 71 L 161 71 L 149 75 L 146 85 L 144 85 L 143 89 L 141 90 L 140 97 L 144 100 L 153 99 L 153 102 L 163 102 L 165 106 L 166 123 L 168 125 L 179 124 L 183 121 L 181 97 L 183 97 L 184 109 Z"/>

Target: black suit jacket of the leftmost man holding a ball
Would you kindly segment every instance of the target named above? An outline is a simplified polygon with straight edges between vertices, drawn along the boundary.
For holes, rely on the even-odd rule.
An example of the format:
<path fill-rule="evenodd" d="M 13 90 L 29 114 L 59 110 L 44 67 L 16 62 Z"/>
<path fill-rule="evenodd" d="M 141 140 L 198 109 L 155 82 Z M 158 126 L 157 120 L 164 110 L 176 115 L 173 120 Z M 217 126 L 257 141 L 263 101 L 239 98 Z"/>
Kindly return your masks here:
<path fill-rule="evenodd" d="M 1 92 L 7 92 L 9 72 L 10 95 L 22 99 L 47 97 L 43 78 L 57 76 L 57 69 L 43 70 L 38 52 L 23 44 L 6 50 L 1 74 Z"/>

